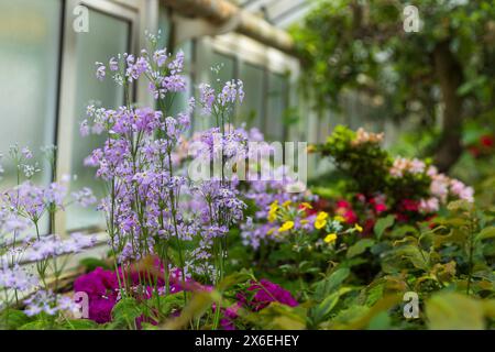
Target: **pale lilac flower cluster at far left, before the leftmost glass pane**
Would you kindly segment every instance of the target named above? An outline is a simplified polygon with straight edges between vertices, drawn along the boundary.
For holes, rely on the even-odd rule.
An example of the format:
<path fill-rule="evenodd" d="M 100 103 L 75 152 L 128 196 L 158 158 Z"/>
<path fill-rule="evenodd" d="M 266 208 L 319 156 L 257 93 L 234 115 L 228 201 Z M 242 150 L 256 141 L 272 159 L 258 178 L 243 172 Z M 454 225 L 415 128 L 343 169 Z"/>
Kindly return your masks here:
<path fill-rule="evenodd" d="M 45 147 L 42 151 L 52 164 L 54 148 Z M 95 239 L 79 233 L 74 233 L 68 239 L 44 234 L 41 222 L 47 218 L 54 227 L 57 211 L 70 204 L 89 207 L 96 202 L 96 198 L 89 188 L 74 193 L 73 199 L 67 197 L 68 176 L 47 185 L 34 184 L 31 177 L 36 167 L 28 164 L 33 158 L 31 150 L 15 145 L 10 148 L 9 154 L 16 165 L 18 184 L 0 195 L 0 288 L 6 293 L 1 297 L 2 306 L 20 304 L 20 293 L 34 293 L 25 300 L 26 315 L 74 311 L 77 307 L 72 300 L 51 292 L 47 282 L 54 277 L 57 283 L 57 277 L 62 274 L 66 261 L 59 263 L 58 256 L 91 246 Z M 56 286 L 55 284 L 55 292 Z"/>

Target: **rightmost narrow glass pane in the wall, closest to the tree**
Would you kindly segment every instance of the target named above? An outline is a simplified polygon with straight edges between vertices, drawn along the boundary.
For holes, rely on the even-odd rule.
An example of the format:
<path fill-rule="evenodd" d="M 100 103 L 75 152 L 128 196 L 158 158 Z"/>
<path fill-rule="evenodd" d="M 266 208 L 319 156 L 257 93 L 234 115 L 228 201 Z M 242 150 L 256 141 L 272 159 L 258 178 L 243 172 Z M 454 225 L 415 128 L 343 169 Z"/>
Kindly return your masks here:
<path fill-rule="evenodd" d="M 284 139 L 284 114 L 288 105 L 287 90 L 287 77 L 274 73 L 268 74 L 265 130 L 270 140 L 282 141 Z"/>

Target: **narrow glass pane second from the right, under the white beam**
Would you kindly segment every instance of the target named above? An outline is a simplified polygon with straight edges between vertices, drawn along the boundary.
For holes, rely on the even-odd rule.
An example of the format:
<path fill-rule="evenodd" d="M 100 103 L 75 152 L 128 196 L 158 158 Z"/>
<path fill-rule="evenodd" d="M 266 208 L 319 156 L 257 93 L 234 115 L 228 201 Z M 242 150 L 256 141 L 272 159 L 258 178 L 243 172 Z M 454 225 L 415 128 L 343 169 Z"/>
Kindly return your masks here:
<path fill-rule="evenodd" d="M 249 127 L 263 129 L 264 111 L 264 72 L 263 68 L 241 63 L 240 79 L 244 82 L 245 98 L 239 109 L 239 120 L 248 122 Z"/>

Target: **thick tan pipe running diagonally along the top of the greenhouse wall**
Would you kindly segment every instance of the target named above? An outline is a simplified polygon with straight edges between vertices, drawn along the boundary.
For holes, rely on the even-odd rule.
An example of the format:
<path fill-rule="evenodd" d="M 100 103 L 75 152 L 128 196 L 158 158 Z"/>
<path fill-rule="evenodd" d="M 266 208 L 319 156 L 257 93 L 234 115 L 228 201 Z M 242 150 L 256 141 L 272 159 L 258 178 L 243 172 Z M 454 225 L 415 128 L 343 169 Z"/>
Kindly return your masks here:
<path fill-rule="evenodd" d="M 222 25 L 239 16 L 235 31 L 285 53 L 294 53 L 294 41 L 289 34 L 265 20 L 243 11 L 226 0 L 162 0 L 162 3 L 186 16 L 202 16 Z"/>

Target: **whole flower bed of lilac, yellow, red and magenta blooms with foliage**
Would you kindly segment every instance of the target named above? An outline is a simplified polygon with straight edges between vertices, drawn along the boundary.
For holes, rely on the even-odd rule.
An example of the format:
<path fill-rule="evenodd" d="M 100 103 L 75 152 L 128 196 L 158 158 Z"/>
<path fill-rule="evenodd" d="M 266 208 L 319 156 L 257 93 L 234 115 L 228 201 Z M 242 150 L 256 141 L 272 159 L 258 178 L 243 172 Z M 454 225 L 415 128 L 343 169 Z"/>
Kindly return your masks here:
<path fill-rule="evenodd" d="M 186 90 L 184 54 L 172 56 L 148 38 L 151 48 L 139 56 L 97 63 L 97 78 L 113 79 L 128 99 L 117 109 L 88 107 L 80 124 L 82 135 L 106 138 L 85 163 L 107 186 L 97 208 L 112 265 L 76 278 L 79 301 L 59 292 L 61 255 L 94 240 L 61 239 L 53 227 L 42 235 L 40 224 L 73 202 L 88 207 L 96 199 L 88 188 L 67 197 L 69 178 L 36 186 L 31 152 L 12 150 L 19 183 L 2 195 L 0 212 L 3 328 L 493 327 L 494 212 L 476 208 L 471 187 L 429 161 L 391 156 L 382 134 L 343 127 L 310 147 L 332 158 L 338 184 L 288 191 L 295 179 L 284 165 L 272 180 L 240 179 L 232 172 L 251 153 L 272 152 L 266 144 L 250 147 L 263 141 L 257 130 L 232 125 L 242 81 L 202 84 L 199 101 L 172 117 L 174 96 Z M 156 108 L 129 100 L 141 79 Z M 212 128 L 188 139 L 196 105 Z M 210 163 L 221 172 L 197 177 L 198 160 L 208 162 L 199 176 Z M 268 160 L 246 169 L 272 166 Z M 21 265 L 26 258 L 35 275 Z M 403 309 L 404 297 L 421 304 Z M 473 311 L 460 308 L 465 305 Z M 80 310 L 86 316 L 74 319 Z"/>

